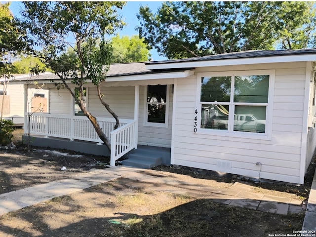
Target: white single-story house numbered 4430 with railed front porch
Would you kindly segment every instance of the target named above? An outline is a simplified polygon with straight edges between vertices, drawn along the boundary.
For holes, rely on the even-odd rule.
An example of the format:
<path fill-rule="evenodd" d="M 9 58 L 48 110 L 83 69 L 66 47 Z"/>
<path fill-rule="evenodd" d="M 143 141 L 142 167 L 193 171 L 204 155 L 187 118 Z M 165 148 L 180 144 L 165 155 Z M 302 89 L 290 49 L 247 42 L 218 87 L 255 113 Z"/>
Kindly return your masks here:
<path fill-rule="evenodd" d="M 315 71 L 315 48 L 114 64 L 101 92 L 120 127 L 112 131 L 91 83 L 86 106 L 111 137 L 111 165 L 145 145 L 170 149 L 165 163 L 303 184 L 316 148 Z M 50 94 L 48 113 L 31 119 L 38 144 L 55 139 L 72 148 L 84 140 L 94 152 L 104 148 L 70 93 L 51 79 L 37 79 Z M 222 125 L 206 126 L 209 119 Z"/>

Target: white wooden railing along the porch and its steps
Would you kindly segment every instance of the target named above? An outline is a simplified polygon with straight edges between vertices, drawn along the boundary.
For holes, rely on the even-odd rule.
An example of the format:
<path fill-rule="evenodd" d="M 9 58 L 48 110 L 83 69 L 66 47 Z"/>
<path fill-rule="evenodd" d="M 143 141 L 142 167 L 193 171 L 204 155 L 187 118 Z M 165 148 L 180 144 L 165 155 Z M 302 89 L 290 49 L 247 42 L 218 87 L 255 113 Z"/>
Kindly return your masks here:
<path fill-rule="evenodd" d="M 28 133 L 28 115 L 25 115 L 24 133 Z M 114 118 L 97 118 L 105 135 L 111 140 L 111 165 L 127 152 L 137 147 L 137 122 L 132 119 L 119 119 L 116 130 Z M 103 142 L 94 130 L 91 122 L 84 116 L 34 113 L 30 117 L 30 134 Z"/>

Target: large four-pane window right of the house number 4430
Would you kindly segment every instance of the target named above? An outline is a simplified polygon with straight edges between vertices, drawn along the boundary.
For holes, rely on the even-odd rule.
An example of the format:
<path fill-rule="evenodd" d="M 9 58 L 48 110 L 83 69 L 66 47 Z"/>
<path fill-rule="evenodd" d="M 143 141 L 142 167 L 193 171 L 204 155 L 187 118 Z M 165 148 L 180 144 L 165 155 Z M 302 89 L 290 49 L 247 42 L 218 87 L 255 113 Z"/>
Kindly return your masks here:
<path fill-rule="evenodd" d="M 271 70 L 198 74 L 200 131 L 267 134 L 273 78 Z"/>

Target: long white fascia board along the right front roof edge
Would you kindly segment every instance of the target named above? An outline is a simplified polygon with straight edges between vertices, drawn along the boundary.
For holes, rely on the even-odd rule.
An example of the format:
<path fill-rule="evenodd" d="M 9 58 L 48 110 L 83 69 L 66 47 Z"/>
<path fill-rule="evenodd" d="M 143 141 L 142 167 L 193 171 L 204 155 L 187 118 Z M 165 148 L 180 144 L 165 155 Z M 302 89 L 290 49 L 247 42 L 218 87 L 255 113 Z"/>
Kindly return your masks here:
<path fill-rule="evenodd" d="M 199 67 L 232 66 L 232 65 L 246 65 L 246 64 L 261 64 L 261 63 L 302 62 L 302 61 L 316 61 L 316 54 L 148 64 L 146 65 L 146 68 L 148 70 L 159 70 L 159 69 L 161 70 L 161 69 L 175 69 L 175 68 L 199 68 Z"/>

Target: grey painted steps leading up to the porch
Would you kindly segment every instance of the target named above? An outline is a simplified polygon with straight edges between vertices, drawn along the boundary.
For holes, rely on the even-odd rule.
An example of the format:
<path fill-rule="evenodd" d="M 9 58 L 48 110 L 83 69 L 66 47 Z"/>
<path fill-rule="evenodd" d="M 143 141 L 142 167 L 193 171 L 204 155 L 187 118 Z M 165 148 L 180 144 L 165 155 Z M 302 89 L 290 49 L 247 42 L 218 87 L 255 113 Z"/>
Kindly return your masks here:
<path fill-rule="evenodd" d="M 128 155 L 128 159 L 122 161 L 122 165 L 132 166 L 136 168 L 148 169 L 162 164 L 162 158 L 153 156 L 153 154 L 133 153 Z"/>

